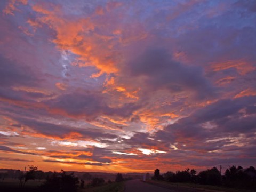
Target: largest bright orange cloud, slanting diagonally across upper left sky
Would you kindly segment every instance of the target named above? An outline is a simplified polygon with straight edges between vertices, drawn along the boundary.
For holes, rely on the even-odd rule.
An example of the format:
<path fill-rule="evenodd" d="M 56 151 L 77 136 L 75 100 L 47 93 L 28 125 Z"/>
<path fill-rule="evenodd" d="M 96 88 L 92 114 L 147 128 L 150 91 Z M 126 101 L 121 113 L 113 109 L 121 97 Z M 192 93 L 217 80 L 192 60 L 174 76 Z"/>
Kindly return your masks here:
<path fill-rule="evenodd" d="M 86 37 L 86 33 L 94 31 L 95 23 L 88 18 L 70 21 L 58 17 L 58 14 L 62 14 L 58 6 L 54 6 L 53 11 L 49 11 L 45 7 L 47 7 L 45 4 L 36 4 L 33 6 L 34 11 L 43 14 L 42 17 L 37 18 L 37 21 L 45 23 L 57 32 L 57 36 L 53 42 L 60 50 L 69 50 L 79 56 L 79 60 L 83 61 L 78 63 L 79 67 L 94 66 L 99 69 L 100 72 L 93 74 L 92 77 L 98 77 L 103 73 L 116 73 L 118 71 L 112 59 L 113 57 L 110 57 L 111 53 L 108 49 L 102 49 L 102 45 L 98 44 L 100 39 L 102 40 L 101 43 L 105 44 L 104 41 L 108 40 L 106 36 L 96 35 Z"/>

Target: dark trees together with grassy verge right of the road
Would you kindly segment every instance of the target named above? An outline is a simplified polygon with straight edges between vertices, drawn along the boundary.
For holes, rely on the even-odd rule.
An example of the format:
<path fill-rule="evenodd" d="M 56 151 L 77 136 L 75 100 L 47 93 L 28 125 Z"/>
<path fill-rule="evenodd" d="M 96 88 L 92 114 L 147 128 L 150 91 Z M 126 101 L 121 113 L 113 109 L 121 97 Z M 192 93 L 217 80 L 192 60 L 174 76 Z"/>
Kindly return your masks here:
<path fill-rule="evenodd" d="M 230 166 L 224 175 L 216 167 L 201 171 L 195 169 L 168 171 L 160 174 L 156 169 L 148 183 L 166 188 L 188 187 L 203 188 L 215 191 L 256 191 L 256 170 L 253 166 L 243 169 L 242 166 Z"/>

